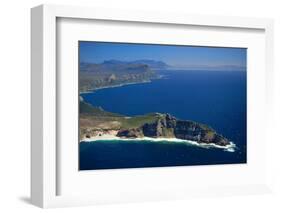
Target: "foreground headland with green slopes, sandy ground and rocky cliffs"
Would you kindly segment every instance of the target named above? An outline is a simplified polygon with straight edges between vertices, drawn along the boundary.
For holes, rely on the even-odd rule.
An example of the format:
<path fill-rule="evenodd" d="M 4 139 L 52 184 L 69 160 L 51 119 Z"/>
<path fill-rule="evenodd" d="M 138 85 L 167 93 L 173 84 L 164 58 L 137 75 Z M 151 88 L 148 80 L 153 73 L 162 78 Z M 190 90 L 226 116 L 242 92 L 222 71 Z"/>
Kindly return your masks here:
<path fill-rule="evenodd" d="M 80 138 L 91 138 L 103 134 L 121 138 L 178 138 L 220 146 L 230 144 L 226 138 L 207 125 L 179 120 L 167 113 L 126 117 L 80 101 Z"/>

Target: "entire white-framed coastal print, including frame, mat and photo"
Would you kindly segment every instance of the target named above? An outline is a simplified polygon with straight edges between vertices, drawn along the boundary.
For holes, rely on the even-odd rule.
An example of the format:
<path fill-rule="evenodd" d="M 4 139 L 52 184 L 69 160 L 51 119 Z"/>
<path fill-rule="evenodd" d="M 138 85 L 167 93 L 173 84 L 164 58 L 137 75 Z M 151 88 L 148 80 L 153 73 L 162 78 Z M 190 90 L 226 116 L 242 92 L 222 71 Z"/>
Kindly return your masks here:
<path fill-rule="evenodd" d="M 272 21 L 32 9 L 32 203 L 270 191 Z"/>

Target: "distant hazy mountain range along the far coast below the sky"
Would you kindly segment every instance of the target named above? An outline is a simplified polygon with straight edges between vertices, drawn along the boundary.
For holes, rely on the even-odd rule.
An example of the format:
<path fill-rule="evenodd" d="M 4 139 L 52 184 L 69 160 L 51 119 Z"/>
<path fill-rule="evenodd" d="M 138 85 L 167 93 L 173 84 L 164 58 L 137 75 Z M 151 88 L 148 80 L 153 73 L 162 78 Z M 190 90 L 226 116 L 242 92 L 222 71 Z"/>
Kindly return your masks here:
<path fill-rule="evenodd" d="M 158 78 L 155 67 L 165 67 L 160 61 L 141 60 L 122 62 L 116 60 L 104 61 L 100 64 L 80 63 L 79 89 L 86 92 L 103 87 L 122 84 L 149 82 Z"/>

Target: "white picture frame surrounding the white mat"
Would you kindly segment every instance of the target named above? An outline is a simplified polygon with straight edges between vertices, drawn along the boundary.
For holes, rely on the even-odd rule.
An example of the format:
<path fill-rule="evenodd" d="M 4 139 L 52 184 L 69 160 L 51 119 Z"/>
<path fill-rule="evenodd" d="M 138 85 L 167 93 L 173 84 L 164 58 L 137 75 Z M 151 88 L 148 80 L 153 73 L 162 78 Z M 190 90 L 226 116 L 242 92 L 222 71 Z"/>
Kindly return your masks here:
<path fill-rule="evenodd" d="M 128 193 L 124 196 L 114 194 L 110 196 L 87 195 L 58 195 L 58 166 L 57 151 L 57 88 L 60 83 L 57 80 L 57 20 L 109 20 L 133 23 L 153 23 L 168 26 L 200 26 L 219 27 L 229 31 L 234 29 L 253 29 L 264 31 L 265 58 L 263 73 L 266 78 L 262 92 L 266 95 L 264 112 L 271 112 L 273 91 L 273 21 L 270 19 L 240 18 L 240 17 L 216 17 L 187 14 L 152 13 L 146 11 L 123 11 L 100 8 L 85 8 L 74 6 L 41 5 L 31 10 L 31 73 L 32 73 L 32 103 L 31 103 L 31 201 L 34 205 L 47 207 L 91 205 L 99 203 L 114 203 L 143 200 L 165 200 L 197 196 L 253 194 L 270 191 L 268 179 L 258 184 L 233 184 L 200 187 L 200 183 L 194 183 L 195 188 L 165 189 L 144 194 Z M 251 91 L 254 93 L 254 91 Z M 248 94 L 252 95 L 252 94 Z M 262 110 L 262 109 L 261 109 Z M 271 113 L 265 115 L 267 135 L 265 146 L 270 139 Z M 261 154 L 262 160 L 266 155 Z M 270 176 L 268 162 L 266 169 L 261 172 Z M 150 169 L 152 171 L 153 169 Z M 179 170 L 179 168 L 173 168 Z M 182 167 L 180 170 L 184 170 Z M 134 173 L 131 170 L 130 173 Z M 112 174 L 111 174 L 112 175 Z M 124 185 L 126 187 L 126 185 Z M 163 187 L 165 187 L 163 185 Z M 164 193 L 165 192 L 165 193 Z"/>

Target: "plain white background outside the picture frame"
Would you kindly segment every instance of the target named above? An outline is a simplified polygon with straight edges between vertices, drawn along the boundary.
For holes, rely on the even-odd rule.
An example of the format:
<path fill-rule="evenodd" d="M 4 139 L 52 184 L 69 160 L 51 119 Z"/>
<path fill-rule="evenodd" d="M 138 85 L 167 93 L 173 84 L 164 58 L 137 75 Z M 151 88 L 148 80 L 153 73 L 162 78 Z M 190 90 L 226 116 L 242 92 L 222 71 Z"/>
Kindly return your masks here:
<path fill-rule="evenodd" d="M 123 9 L 269 17 L 275 20 L 275 120 L 281 119 L 281 4 L 278 0 L 8 0 L 0 7 L 0 212 L 37 212 L 29 204 L 30 178 L 30 8 L 42 3 Z M 281 128 L 281 126 L 280 126 Z M 280 212 L 281 138 L 272 143 L 274 193 L 157 203 L 80 207 L 68 212 Z M 60 212 L 66 209 L 47 211 Z"/>

